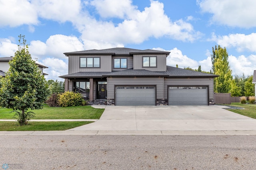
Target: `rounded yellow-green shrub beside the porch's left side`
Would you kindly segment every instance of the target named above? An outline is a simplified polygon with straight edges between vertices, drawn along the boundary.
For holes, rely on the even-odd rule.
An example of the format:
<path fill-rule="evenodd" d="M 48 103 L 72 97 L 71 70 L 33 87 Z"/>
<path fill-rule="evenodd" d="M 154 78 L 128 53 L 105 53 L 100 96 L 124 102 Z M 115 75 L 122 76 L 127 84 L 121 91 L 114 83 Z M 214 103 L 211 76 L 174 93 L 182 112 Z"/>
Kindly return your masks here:
<path fill-rule="evenodd" d="M 73 91 L 65 91 L 60 94 L 58 99 L 58 104 L 60 107 L 68 106 L 81 106 L 84 103 L 84 99 L 80 93 L 75 93 Z"/>

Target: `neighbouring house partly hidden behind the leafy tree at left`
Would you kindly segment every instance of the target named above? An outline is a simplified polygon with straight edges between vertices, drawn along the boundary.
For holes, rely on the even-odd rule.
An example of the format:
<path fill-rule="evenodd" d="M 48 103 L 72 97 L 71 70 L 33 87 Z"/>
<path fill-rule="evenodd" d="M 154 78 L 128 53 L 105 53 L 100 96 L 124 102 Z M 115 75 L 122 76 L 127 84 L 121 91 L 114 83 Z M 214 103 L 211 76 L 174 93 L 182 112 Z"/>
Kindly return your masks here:
<path fill-rule="evenodd" d="M 9 70 L 10 65 L 9 65 L 9 61 L 12 60 L 12 57 L 0 57 L 0 76 L 5 76 L 5 73 Z M 46 69 L 48 67 L 38 64 L 36 63 L 36 65 L 38 65 L 38 69 L 40 69 L 42 71 L 42 75 L 48 75 L 46 73 L 43 72 L 43 69 Z"/>

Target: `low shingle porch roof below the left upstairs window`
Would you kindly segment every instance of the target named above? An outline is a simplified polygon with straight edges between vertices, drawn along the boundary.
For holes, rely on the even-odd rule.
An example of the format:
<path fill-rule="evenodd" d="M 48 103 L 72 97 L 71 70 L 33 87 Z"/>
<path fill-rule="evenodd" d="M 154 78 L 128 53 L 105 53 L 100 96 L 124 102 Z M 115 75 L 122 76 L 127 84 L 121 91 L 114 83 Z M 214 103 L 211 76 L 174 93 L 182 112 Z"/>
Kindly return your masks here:
<path fill-rule="evenodd" d="M 72 73 L 68 75 L 62 75 L 61 78 L 87 78 L 87 77 L 102 77 L 104 74 L 108 74 L 111 72 L 78 72 L 78 73 Z"/>

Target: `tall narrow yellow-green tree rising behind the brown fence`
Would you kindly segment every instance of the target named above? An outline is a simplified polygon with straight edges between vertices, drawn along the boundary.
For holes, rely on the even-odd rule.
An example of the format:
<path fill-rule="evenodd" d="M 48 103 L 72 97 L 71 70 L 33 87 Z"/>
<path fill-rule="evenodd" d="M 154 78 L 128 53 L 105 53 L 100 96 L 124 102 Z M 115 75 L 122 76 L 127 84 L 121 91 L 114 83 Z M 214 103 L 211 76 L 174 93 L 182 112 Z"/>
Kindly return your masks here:
<path fill-rule="evenodd" d="M 215 47 L 216 48 L 216 47 Z M 232 71 L 228 63 L 228 52 L 226 48 L 220 47 L 215 49 L 212 58 L 214 58 L 213 71 L 219 75 L 214 79 L 214 92 L 228 93 L 231 89 Z"/>

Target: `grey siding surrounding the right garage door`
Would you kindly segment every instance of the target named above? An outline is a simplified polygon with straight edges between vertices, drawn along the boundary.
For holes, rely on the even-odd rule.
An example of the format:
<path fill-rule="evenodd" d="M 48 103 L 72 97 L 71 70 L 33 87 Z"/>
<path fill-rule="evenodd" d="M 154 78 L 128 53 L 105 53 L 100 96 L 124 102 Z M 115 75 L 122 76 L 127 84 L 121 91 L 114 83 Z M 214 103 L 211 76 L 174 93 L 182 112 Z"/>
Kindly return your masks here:
<path fill-rule="evenodd" d="M 209 99 L 213 97 L 213 78 L 164 78 L 164 98 L 167 99 L 168 86 L 209 86 Z"/>

